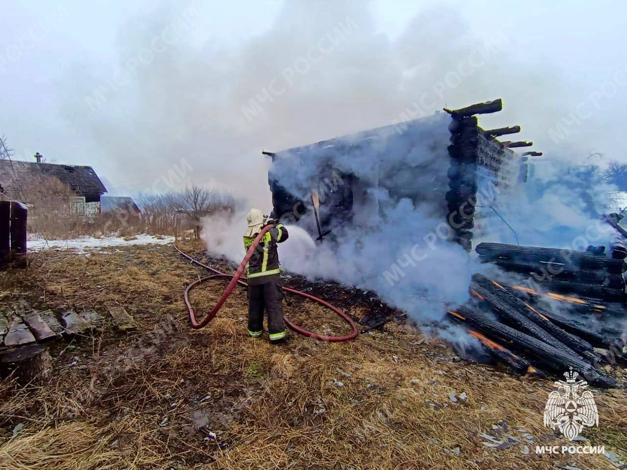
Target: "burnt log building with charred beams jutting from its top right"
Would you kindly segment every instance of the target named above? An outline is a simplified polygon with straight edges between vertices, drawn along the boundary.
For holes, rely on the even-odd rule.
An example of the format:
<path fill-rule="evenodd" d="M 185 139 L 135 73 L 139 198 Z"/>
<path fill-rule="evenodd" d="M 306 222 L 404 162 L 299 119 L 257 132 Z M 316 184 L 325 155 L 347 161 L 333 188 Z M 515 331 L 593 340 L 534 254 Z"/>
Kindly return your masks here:
<path fill-rule="evenodd" d="M 275 214 L 298 220 L 322 240 L 345 225 L 367 226 L 381 212 L 383 200 L 407 199 L 414 207 L 430 206 L 425 217 L 446 221 L 448 238 L 470 251 L 475 219 L 484 206 L 477 200 L 525 183 L 528 154 L 540 155 L 512 151 L 530 142 L 498 141 L 498 136 L 520 132 L 519 126 L 487 131 L 478 126 L 475 114 L 501 109 L 498 99 L 263 152 L 273 161 L 268 183 Z"/>

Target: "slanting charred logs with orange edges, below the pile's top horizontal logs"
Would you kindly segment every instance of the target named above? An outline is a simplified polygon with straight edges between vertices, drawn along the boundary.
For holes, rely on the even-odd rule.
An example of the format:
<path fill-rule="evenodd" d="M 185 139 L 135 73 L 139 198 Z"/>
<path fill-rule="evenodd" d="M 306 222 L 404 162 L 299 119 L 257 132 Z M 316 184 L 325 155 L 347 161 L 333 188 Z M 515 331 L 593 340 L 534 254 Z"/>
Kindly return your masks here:
<path fill-rule="evenodd" d="M 607 326 L 598 302 L 554 292 L 508 286 L 473 275 L 470 302 L 448 311 L 495 360 L 521 374 L 544 376 L 572 367 L 598 387 L 616 387 L 601 371 L 604 364 L 627 360 L 621 331 Z"/>

